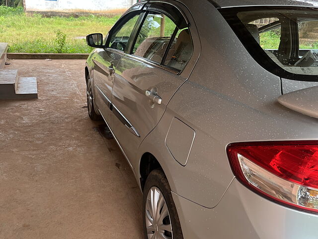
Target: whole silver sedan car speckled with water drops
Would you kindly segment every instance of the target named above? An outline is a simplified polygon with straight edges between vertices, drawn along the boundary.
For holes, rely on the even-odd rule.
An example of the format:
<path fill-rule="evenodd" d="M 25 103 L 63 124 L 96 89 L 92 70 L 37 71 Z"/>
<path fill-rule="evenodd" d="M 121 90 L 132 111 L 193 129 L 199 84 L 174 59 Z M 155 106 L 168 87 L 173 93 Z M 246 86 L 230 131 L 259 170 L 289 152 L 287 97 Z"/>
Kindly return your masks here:
<path fill-rule="evenodd" d="M 145 238 L 318 238 L 317 0 L 141 1 L 86 40 Z"/>

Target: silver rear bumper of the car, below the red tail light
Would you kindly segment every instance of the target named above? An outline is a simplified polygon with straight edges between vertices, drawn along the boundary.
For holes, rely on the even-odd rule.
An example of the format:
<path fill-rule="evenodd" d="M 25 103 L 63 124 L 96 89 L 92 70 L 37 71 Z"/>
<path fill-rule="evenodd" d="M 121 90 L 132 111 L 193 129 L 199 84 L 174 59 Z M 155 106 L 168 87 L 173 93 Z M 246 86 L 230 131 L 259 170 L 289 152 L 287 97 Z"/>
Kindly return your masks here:
<path fill-rule="evenodd" d="M 172 193 L 185 239 L 317 239 L 318 215 L 286 208 L 234 179 L 221 202 L 204 208 Z"/>

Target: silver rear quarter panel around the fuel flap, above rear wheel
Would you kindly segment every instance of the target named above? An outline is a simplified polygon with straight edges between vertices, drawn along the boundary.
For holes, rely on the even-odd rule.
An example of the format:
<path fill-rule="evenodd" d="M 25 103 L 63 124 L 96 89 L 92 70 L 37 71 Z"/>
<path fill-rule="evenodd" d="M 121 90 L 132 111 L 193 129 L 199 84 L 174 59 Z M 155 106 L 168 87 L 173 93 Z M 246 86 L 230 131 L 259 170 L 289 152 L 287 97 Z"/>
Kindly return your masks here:
<path fill-rule="evenodd" d="M 278 103 L 280 78 L 257 64 L 235 33 L 227 29 L 229 26 L 223 22 L 225 20 L 216 8 L 209 3 L 204 5 L 205 2 L 200 4 L 206 11 L 198 15 L 193 13 L 199 33 L 202 32 L 201 42 L 205 51 L 201 52 L 190 78 L 169 102 L 158 126 L 144 140 L 143 144 L 147 146 L 141 145 L 140 156 L 146 148 L 158 153 L 155 156 L 167 170 L 171 190 L 202 206 L 213 208 L 234 177 L 226 154 L 229 143 L 317 139 L 318 121 Z M 191 6 L 191 2 L 187 5 Z M 222 28 L 219 24 L 204 24 L 207 20 L 218 22 Z M 213 59 L 211 64 L 206 64 L 207 59 Z M 182 173 L 179 165 L 170 162 L 173 157 L 166 146 L 156 139 L 166 136 L 174 117 L 196 132 Z M 299 122 L 303 123 L 301 128 Z M 306 136 L 302 138 L 301 135 Z"/>

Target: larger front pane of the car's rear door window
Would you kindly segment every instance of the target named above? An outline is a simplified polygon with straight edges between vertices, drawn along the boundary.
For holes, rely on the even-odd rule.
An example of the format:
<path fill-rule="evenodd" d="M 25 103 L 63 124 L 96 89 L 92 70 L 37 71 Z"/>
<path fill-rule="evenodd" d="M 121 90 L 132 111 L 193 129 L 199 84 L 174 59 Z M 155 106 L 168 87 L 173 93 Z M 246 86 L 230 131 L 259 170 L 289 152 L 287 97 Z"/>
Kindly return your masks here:
<path fill-rule="evenodd" d="M 161 63 L 175 28 L 169 17 L 150 12 L 139 31 L 132 54 Z"/>

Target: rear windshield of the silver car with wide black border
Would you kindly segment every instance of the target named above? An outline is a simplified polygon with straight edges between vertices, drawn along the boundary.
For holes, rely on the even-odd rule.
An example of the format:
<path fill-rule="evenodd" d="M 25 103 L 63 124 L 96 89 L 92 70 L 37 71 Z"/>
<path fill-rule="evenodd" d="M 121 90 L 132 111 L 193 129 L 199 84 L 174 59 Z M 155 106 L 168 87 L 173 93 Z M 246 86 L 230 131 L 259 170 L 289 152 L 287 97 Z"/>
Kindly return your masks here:
<path fill-rule="evenodd" d="M 269 71 L 318 81 L 318 9 L 262 6 L 220 11 L 249 53 Z"/>

